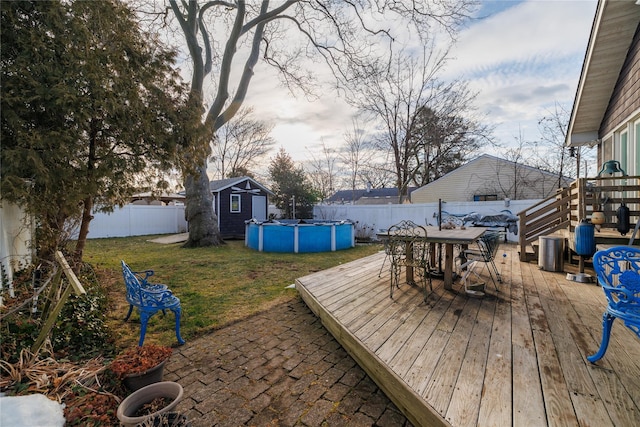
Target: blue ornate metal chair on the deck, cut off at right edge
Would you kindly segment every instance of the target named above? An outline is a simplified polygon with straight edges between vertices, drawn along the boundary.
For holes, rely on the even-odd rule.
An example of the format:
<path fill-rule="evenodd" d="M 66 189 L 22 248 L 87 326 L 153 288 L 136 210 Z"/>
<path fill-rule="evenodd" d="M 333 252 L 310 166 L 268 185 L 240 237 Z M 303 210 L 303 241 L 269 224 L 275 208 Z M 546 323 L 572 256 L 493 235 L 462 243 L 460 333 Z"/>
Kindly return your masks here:
<path fill-rule="evenodd" d="M 602 315 L 600 348 L 587 357 L 591 363 L 606 353 L 616 318 L 640 338 L 640 248 L 615 246 L 598 251 L 593 256 L 593 269 L 607 298 L 607 309 Z"/>

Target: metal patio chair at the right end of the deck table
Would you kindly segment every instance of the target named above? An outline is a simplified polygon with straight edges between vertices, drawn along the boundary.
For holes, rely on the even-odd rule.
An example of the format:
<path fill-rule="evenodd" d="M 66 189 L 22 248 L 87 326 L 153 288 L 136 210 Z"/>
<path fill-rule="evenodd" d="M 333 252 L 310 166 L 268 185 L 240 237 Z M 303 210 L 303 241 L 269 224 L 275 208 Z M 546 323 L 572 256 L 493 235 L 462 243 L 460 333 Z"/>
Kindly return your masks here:
<path fill-rule="evenodd" d="M 495 259 L 498 253 L 498 247 L 500 246 L 501 232 L 499 231 L 487 231 L 477 242 L 477 248 L 465 249 L 461 251 L 460 258 L 462 263 L 460 270 L 466 270 L 462 274 L 462 281 L 464 283 L 465 292 L 472 295 L 484 295 L 484 292 L 474 289 L 477 285 L 482 284 L 480 282 L 480 274 L 486 267 L 489 271 L 489 277 L 493 282 L 493 286 L 496 292 L 499 292 L 497 283 L 502 283 L 502 276 L 498 271 Z M 480 271 L 476 271 L 478 264 L 482 265 Z M 471 275 L 475 276 L 478 282 L 470 283 Z"/>

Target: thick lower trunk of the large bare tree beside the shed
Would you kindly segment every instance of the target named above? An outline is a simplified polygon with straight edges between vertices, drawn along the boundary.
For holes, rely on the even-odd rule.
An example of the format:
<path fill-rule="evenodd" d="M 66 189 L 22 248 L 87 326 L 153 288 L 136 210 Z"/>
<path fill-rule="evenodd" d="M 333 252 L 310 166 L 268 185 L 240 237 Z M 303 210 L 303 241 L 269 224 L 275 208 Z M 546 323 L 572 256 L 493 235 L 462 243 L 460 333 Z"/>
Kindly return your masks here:
<path fill-rule="evenodd" d="M 189 239 L 183 247 L 220 246 L 224 241 L 218 229 L 218 218 L 213 211 L 206 162 L 198 168 L 197 174 L 198 176 L 187 174 L 184 182 Z"/>

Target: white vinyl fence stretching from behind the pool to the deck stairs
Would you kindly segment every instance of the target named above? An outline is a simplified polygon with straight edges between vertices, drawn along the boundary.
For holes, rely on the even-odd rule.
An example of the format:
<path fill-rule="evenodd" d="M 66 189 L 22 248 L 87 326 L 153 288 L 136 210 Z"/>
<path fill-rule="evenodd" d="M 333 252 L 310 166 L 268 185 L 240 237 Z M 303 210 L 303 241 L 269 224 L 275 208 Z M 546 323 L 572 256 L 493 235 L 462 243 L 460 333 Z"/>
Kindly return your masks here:
<path fill-rule="evenodd" d="M 517 215 L 539 200 L 500 200 L 495 202 L 443 202 L 442 212 L 449 214 L 497 215 L 509 211 Z M 313 207 L 314 219 L 351 220 L 357 222 L 356 233 L 375 234 L 402 220 L 411 220 L 420 225 L 438 225 L 438 203 L 416 203 L 406 205 L 317 205 Z M 443 218 L 445 215 L 443 214 Z M 518 224 L 520 230 L 520 224 Z M 507 233 L 509 241 L 518 241 L 514 233 Z"/>

